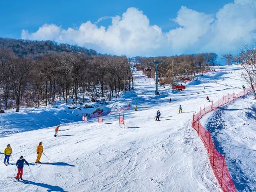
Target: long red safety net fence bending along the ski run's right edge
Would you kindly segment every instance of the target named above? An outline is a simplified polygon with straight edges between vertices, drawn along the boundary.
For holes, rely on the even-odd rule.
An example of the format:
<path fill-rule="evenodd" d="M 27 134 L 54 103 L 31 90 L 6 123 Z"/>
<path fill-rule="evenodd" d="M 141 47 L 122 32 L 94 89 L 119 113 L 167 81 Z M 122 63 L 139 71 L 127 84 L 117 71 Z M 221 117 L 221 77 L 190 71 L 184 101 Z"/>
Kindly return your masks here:
<path fill-rule="evenodd" d="M 233 101 L 236 98 L 242 97 L 250 93 L 252 89 L 244 89 L 238 94 L 234 92 L 220 98 L 217 102 L 211 102 L 211 105 L 208 107 L 200 108 L 198 113 L 193 114 L 193 123 L 192 127 L 197 131 L 199 137 L 201 138 L 210 160 L 211 167 L 213 169 L 214 175 L 216 176 L 222 190 L 224 192 L 236 192 L 234 183 L 228 171 L 228 166 L 225 162 L 225 156 L 221 155 L 215 148 L 214 143 L 212 142 L 211 134 L 207 131 L 200 123 L 199 119 L 206 113 L 216 110 L 217 108 Z"/>

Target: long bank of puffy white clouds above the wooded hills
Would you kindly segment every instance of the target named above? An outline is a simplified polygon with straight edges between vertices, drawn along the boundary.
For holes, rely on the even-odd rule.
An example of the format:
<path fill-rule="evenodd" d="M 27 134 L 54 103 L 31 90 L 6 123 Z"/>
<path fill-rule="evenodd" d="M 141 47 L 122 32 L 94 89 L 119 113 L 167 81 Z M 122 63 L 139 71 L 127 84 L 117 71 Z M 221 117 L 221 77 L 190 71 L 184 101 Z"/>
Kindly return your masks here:
<path fill-rule="evenodd" d="M 96 25 L 109 18 L 111 26 Z M 122 16 L 102 17 L 95 24 L 87 21 L 78 29 L 45 24 L 36 32 L 22 30 L 22 38 L 78 44 L 116 55 L 235 53 L 244 44 L 253 44 L 256 40 L 256 1 L 235 0 L 215 14 L 181 6 L 172 21 L 179 27 L 164 33 L 160 27 L 150 25 L 142 11 L 128 8 Z"/>

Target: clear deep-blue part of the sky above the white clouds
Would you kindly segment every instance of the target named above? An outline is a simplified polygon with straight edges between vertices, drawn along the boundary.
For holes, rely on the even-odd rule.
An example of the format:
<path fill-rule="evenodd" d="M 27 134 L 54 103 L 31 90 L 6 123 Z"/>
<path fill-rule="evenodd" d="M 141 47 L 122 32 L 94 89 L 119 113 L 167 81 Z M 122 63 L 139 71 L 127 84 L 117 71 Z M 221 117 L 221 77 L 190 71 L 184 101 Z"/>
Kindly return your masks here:
<path fill-rule="evenodd" d="M 182 5 L 199 12 L 215 13 L 232 0 L 1 0 L 0 37 L 21 38 L 22 29 L 35 31 L 43 24 L 79 27 L 86 21 L 96 22 L 103 16 L 121 15 L 129 7 L 142 10 L 151 25 L 168 31 L 177 24 L 170 22 Z M 108 26 L 111 20 L 99 25 Z"/>

